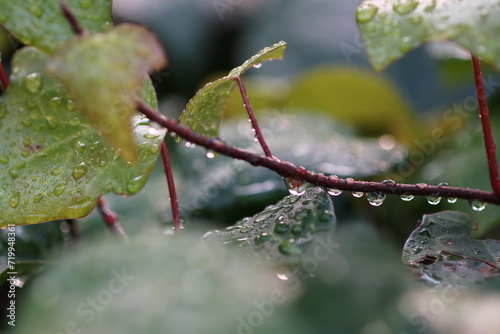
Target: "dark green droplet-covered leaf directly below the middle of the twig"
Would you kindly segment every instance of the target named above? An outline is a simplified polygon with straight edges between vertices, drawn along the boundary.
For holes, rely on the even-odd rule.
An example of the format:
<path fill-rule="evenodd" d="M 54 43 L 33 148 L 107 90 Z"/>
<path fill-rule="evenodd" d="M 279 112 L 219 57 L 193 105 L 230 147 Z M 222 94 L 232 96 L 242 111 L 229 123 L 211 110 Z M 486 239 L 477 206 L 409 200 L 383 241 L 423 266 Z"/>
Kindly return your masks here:
<path fill-rule="evenodd" d="M 323 188 L 314 187 L 224 230 L 208 232 L 204 240 L 237 245 L 278 264 L 300 264 L 318 247 L 333 247 L 336 221 L 330 197 Z"/>

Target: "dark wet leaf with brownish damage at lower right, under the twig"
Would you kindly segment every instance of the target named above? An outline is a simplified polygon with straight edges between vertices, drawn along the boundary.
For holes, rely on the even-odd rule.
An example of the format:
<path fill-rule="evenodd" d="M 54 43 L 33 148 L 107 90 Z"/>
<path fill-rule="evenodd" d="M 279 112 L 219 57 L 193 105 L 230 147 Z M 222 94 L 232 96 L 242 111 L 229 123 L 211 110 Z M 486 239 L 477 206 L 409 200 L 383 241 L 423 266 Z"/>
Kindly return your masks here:
<path fill-rule="evenodd" d="M 443 211 L 424 215 L 403 248 L 405 264 L 431 283 L 467 284 L 499 275 L 500 241 L 474 240 L 469 215 Z"/>

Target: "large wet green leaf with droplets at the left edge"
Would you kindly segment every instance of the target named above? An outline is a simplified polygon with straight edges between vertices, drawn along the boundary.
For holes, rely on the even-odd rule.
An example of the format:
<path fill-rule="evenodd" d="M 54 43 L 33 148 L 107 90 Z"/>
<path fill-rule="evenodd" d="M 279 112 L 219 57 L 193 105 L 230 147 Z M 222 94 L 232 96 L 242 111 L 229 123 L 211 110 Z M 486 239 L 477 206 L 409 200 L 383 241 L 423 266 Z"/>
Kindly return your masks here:
<path fill-rule="evenodd" d="M 24 48 L 0 97 L 0 227 L 87 215 L 100 195 L 137 193 L 165 134 L 134 118 L 139 163 L 125 163 L 86 122 L 64 87 L 43 74 L 48 56 Z M 148 81 L 142 97 L 156 106 Z"/>

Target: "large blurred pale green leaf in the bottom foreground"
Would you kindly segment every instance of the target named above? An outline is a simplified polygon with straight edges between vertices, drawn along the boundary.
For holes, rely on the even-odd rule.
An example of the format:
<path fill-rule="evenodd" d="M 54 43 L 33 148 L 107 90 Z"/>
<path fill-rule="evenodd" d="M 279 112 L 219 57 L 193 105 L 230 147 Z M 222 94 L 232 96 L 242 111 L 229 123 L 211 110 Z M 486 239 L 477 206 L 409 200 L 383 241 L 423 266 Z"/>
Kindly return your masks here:
<path fill-rule="evenodd" d="M 256 303 L 268 309 L 277 294 L 281 303 L 292 301 L 255 259 L 193 239 L 186 231 L 176 240 L 106 240 L 69 254 L 34 282 L 13 333 L 234 333 Z M 276 333 L 266 330 L 272 323 L 293 328 L 293 319 L 282 321 L 266 318 L 259 331 Z"/>

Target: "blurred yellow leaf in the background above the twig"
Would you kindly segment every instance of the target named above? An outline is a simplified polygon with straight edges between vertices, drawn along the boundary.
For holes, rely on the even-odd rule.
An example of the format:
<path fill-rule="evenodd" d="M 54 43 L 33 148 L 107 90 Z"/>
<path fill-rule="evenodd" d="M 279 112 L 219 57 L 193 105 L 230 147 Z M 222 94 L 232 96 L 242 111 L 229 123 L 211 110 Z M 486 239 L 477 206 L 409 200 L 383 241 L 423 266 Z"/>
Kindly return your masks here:
<path fill-rule="evenodd" d="M 331 115 L 366 134 L 392 134 L 411 145 L 420 126 L 412 108 L 387 79 L 355 68 L 323 67 L 302 75 L 287 106 Z"/>

